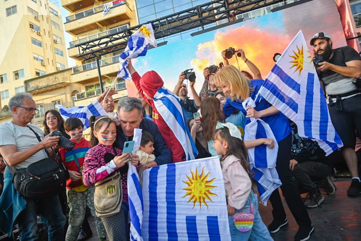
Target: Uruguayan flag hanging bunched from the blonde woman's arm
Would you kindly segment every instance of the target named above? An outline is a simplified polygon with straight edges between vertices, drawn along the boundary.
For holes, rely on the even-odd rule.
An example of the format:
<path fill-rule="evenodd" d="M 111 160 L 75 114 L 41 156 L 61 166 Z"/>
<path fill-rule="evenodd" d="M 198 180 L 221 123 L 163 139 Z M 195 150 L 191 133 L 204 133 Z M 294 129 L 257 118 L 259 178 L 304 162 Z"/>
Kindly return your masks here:
<path fill-rule="evenodd" d="M 242 102 L 243 108 L 256 107 L 255 101 L 248 97 Z M 274 140 L 274 147 L 270 149 L 267 145 L 259 145 L 247 149 L 249 167 L 253 178 L 257 181 L 257 189 L 260 193 L 261 203 L 266 206 L 272 192 L 281 185 L 281 180 L 276 170 L 278 143 L 270 126 L 262 119 L 251 118 L 244 128 L 244 140 L 250 141 L 258 138 L 269 138 Z"/>

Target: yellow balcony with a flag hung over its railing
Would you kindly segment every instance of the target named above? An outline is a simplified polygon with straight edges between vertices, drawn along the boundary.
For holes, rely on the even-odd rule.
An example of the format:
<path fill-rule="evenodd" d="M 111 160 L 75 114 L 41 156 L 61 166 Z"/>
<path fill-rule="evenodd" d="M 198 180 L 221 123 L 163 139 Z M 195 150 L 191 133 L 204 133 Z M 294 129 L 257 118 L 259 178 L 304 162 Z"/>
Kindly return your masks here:
<path fill-rule="evenodd" d="M 126 1 L 122 5 L 111 8 L 104 17 L 102 16 L 103 10 L 104 6 L 100 5 L 66 17 L 65 31 L 73 36 L 78 36 L 98 29 L 98 27 L 105 27 L 114 23 L 122 24 L 122 22 L 126 23 L 125 21 L 134 18 L 134 13 Z"/>

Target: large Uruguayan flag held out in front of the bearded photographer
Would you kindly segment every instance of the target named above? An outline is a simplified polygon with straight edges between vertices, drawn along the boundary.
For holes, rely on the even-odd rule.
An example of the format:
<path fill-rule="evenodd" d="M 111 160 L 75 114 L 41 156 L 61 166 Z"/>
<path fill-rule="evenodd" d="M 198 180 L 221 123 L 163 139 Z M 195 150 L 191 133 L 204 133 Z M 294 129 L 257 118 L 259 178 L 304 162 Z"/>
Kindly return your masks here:
<path fill-rule="evenodd" d="M 326 155 L 343 146 L 300 30 L 268 74 L 258 94 L 297 124 L 301 137 L 316 139 Z"/>

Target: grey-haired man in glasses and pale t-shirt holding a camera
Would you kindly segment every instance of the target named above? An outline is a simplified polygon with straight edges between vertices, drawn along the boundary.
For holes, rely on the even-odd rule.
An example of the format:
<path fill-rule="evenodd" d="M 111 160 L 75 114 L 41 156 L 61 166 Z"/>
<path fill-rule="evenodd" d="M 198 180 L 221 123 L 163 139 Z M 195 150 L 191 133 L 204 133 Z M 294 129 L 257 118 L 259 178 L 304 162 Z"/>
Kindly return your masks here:
<path fill-rule="evenodd" d="M 13 120 L 0 125 L 0 153 L 8 166 L 27 168 L 30 164 L 47 158 L 45 149 L 53 155 L 51 147 L 56 146 L 59 137 L 44 137 L 42 130 L 29 124 L 38 109 L 28 93 L 18 93 L 9 101 L 13 112 Z M 41 142 L 38 141 L 36 132 Z M 59 198 L 44 199 L 25 198 L 18 195 L 12 183 L 12 175 L 8 169 L 4 172 L 4 190 L 0 197 L 0 229 L 8 235 L 12 231 L 15 220 L 18 220 L 20 240 L 38 240 L 37 218 L 48 226 L 49 240 L 64 240 L 65 216 L 62 213 Z"/>

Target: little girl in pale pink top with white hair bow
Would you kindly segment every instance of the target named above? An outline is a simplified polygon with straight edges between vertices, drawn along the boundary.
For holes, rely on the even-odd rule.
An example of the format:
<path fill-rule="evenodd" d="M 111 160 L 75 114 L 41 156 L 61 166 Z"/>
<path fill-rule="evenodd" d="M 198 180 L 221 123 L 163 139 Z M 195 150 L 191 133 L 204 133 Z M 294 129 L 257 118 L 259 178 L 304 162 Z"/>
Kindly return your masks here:
<path fill-rule="evenodd" d="M 231 240 L 273 240 L 258 211 L 257 195 L 251 190 L 247 149 L 242 141 L 240 130 L 231 123 L 223 124 L 222 128 L 214 131 L 213 141 L 216 153 L 221 155 Z M 251 219 L 235 222 L 234 215 L 242 212 L 247 216 L 253 214 L 253 226 Z M 243 231 L 240 231 L 241 229 Z M 245 231 L 247 229 L 249 230 Z"/>

